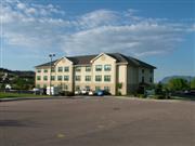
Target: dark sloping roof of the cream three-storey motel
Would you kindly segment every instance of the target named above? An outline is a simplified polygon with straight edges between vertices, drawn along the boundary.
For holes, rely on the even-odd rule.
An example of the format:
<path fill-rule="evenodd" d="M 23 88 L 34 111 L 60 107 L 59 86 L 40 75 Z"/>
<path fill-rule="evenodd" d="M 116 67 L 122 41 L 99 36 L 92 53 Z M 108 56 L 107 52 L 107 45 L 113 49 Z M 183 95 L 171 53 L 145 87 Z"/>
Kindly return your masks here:
<path fill-rule="evenodd" d="M 130 57 L 130 56 L 126 56 L 126 55 L 120 54 L 120 53 L 105 53 L 105 54 L 107 54 L 107 55 L 112 56 L 113 58 L 115 58 L 117 61 L 117 63 L 126 63 L 126 64 L 131 64 L 131 65 L 140 66 L 140 67 L 156 68 L 156 67 L 154 67 L 154 66 L 152 66 L 150 64 L 146 64 L 146 63 L 144 63 L 144 62 L 142 62 L 140 59 L 136 59 L 136 58 L 133 58 L 133 57 Z M 66 56 L 66 58 L 72 61 L 74 63 L 74 65 L 88 65 L 88 64 L 91 64 L 90 61 L 93 59 L 96 56 L 98 56 L 98 54 L 96 55 L 82 55 L 82 56 Z M 53 61 L 52 66 L 57 61 L 58 59 Z M 46 64 L 38 65 L 38 66 L 36 66 L 36 68 L 44 67 L 44 66 L 50 66 L 50 62 L 46 63 Z"/>

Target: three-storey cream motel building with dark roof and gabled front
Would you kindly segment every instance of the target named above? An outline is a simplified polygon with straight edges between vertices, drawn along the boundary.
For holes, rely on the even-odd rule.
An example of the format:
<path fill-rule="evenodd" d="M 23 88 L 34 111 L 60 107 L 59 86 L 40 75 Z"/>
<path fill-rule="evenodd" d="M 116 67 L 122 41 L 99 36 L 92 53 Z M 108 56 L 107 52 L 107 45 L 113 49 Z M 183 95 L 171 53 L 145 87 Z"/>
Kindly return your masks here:
<path fill-rule="evenodd" d="M 136 91 L 139 84 L 153 83 L 155 68 L 120 53 L 64 56 L 36 66 L 36 87 L 47 88 L 51 83 L 63 91 L 101 89 L 126 95 Z"/>

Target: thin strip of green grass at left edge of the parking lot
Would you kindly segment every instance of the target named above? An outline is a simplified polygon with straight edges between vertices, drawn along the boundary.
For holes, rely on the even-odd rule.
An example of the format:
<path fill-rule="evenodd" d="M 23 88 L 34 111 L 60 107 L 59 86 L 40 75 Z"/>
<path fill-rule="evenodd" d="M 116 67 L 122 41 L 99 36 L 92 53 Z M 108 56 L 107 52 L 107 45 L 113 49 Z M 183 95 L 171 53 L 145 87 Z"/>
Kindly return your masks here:
<path fill-rule="evenodd" d="M 18 93 L 3 93 L 0 92 L 0 98 L 12 98 L 12 97 L 49 97 L 49 95 L 35 95 L 35 94 L 18 94 Z"/>

